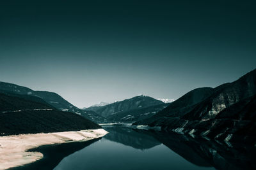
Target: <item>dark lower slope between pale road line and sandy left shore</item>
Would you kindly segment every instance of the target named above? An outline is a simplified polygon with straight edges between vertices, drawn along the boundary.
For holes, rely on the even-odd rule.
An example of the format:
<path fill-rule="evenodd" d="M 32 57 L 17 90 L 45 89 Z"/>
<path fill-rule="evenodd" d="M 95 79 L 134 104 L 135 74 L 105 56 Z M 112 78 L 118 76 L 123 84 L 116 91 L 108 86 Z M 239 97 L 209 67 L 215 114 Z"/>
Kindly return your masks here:
<path fill-rule="evenodd" d="M 0 135 L 80 131 L 100 126 L 76 113 L 58 110 L 0 113 Z"/>

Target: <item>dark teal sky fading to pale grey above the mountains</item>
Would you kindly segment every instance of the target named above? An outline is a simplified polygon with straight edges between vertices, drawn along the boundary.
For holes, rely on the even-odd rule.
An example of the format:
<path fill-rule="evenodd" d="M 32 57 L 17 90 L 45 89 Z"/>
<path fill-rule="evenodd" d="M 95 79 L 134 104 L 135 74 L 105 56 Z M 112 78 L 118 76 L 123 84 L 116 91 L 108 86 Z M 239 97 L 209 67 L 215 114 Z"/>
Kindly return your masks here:
<path fill-rule="evenodd" d="M 253 1 L 0 1 L 0 81 L 79 108 L 178 99 L 256 68 Z"/>

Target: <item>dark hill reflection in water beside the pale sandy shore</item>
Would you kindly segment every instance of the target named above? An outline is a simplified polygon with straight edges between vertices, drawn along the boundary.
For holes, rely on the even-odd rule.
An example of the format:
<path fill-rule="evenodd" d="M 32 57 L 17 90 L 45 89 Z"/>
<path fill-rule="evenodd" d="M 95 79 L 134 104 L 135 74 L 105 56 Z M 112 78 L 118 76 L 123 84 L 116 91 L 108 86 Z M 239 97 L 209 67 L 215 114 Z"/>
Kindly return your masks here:
<path fill-rule="evenodd" d="M 29 152 L 41 152 L 44 154 L 43 159 L 37 160 L 31 164 L 25 166 L 14 167 L 15 170 L 26 170 L 26 169 L 37 169 L 37 170 L 50 170 L 54 169 L 59 162 L 68 155 L 77 152 L 85 148 L 86 146 L 95 143 L 101 138 L 92 139 L 90 141 L 84 142 L 72 142 L 72 143 L 63 143 L 59 145 L 44 145 L 39 146 L 38 148 L 31 149 Z"/>

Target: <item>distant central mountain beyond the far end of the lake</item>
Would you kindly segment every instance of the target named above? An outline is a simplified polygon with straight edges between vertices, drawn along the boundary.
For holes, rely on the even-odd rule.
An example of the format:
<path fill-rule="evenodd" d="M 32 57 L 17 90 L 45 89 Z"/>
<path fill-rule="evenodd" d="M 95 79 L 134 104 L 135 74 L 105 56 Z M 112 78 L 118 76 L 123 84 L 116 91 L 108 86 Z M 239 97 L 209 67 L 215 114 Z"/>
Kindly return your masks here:
<path fill-rule="evenodd" d="M 151 117 L 152 114 L 154 115 L 157 113 L 157 111 L 163 109 L 165 106 L 166 104 L 164 104 L 162 101 L 141 95 L 132 97 L 131 99 L 125 99 L 124 101 L 111 103 L 106 106 L 86 108 L 85 110 L 95 111 L 111 122 L 132 122 L 140 120 L 138 117 L 142 118 L 146 115 L 147 117 Z"/>

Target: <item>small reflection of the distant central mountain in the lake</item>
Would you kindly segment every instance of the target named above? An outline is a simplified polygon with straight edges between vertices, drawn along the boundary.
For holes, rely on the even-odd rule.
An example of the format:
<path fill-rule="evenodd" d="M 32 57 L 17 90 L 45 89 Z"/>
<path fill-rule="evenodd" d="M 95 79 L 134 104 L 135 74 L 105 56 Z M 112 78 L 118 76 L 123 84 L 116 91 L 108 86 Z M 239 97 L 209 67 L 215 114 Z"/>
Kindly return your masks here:
<path fill-rule="evenodd" d="M 104 127 L 104 129 L 109 132 L 104 138 L 132 148 L 145 150 L 161 144 L 153 136 L 128 127 Z"/>

